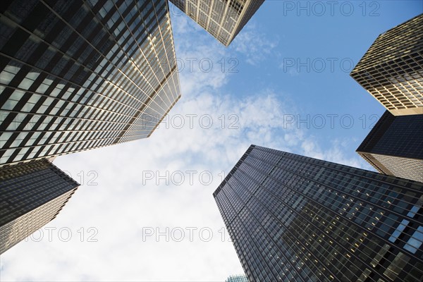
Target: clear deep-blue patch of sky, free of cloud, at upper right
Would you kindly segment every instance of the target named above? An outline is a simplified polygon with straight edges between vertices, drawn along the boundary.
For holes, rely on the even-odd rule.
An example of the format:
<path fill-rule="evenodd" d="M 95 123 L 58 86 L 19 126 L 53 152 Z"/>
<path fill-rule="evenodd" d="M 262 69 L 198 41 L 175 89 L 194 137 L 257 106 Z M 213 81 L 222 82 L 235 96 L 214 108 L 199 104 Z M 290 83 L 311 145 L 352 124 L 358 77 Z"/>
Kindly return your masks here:
<path fill-rule="evenodd" d="M 381 116 L 384 112 L 379 102 L 350 78 L 349 62 L 355 65 L 381 32 L 422 13 L 423 4 L 422 1 L 335 1 L 331 10 L 329 2 L 266 1 L 247 29 L 255 25 L 256 32 L 275 47 L 265 44 L 269 52 L 255 66 L 247 63 L 241 54 L 240 73 L 228 87 L 237 94 L 258 92 L 262 88 L 283 92 L 298 106 L 298 112 L 292 114 L 299 114 L 303 119 L 307 114 L 310 118 L 314 114 L 338 114 L 339 118 L 350 114 L 355 122 L 352 128 L 348 128 L 347 116 L 345 128 L 334 116 L 335 130 L 329 126 L 329 117 L 322 129 L 310 126 L 308 130 L 324 144 L 330 144 L 333 138 L 355 140 L 351 152 L 345 152 L 348 154 L 353 153 L 352 149 L 367 135 L 369 125 L 376 121 L 372 114 Z M 234 49 L 238 42 L 235 39 L 233 43 L 230 48 Z M 300 66 L 298 73 L 298 63 L 307 63 L 307 59 L 311 62 L 309 71 L 307 66 Z M 282 63 L 292 64 L 291 60 L 295 61 L 294 66 L 283 68 Z"/>

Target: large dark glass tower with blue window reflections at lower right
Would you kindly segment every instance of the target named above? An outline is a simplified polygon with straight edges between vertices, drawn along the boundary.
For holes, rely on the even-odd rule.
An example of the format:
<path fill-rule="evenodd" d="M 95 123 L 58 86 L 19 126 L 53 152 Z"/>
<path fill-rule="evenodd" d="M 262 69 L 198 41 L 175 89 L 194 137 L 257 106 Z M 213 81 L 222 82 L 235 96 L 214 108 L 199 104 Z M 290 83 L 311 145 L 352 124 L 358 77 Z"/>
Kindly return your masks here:
<path fill-rule="evenodd" d="M 214 198 L 250 282 L 421 281 L 423 183 L 252 145 Z"/>

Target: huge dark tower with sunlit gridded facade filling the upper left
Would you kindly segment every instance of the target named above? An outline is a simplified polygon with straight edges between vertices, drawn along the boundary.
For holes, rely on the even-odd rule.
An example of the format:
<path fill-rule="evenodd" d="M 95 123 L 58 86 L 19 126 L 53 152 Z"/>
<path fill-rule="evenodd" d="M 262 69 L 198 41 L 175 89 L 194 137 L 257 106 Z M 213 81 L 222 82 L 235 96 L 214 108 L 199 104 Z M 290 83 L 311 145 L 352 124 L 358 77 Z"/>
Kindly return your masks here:
<path fill-rule="evenodd" d="M 149 137 L 180 97 L 166 0 L 0 10 L 0 165 Z"/>

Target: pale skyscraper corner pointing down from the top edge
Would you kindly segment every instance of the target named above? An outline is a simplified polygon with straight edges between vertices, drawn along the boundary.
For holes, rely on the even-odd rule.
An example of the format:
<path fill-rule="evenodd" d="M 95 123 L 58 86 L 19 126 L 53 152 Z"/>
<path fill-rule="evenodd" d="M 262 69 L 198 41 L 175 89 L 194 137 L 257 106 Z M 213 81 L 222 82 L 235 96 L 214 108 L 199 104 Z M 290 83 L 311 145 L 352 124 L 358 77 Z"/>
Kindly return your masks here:
<path fill-rule="evenodd" d="M 228 47 L 264 0 L 170 0 Z"/>

